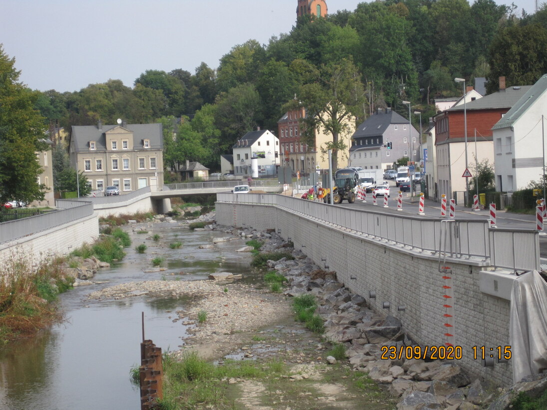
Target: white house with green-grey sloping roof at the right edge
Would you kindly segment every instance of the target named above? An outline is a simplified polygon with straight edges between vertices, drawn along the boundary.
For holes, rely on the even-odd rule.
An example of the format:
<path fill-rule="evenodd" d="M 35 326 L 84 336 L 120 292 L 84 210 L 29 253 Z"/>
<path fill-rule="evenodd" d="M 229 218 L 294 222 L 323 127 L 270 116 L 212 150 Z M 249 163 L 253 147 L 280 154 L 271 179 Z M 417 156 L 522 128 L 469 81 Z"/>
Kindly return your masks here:
<path fill-rule="evenodd" d="M 524 189 L 530 181 L 541 178 L 546 153 L 545 116 L 547 74 L 492 127 L 497 191 Z"/>

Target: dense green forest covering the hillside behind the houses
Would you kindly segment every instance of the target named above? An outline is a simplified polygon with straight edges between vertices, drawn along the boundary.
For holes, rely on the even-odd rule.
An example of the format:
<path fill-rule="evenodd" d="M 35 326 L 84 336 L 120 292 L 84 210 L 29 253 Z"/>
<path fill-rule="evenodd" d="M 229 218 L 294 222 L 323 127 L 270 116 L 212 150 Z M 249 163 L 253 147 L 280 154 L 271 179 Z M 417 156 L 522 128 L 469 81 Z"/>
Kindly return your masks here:
<path fill-rule="evenodd" d="M 507 86 L 534 84 L 547 72 L 547 6 L 515 10 L 493 0 L 360 3 L 325 19 L 302 16 L 267 44 L 235 45 L 217 68 L 150 69 L 131 87 L 111 79 L 75 92 L 34 91 L 34 107 L 50 130 L 117 118 L 162 122 L 167 167 L 190 160 L 218 169 L 237 138 L 257 126 L 276 131 L 294 104 L 308 107 L 309 117 L 321 104 L 340 104 L 347 113 L 326 114 L 360 122 L 383 107 L 404 116 L 401 101 L 408 100 L 427 122 L 434 98 L 461 95 L 455 77 L 468 84 L 485 77 L 488 92 L 502 75 Z M 342 148 L 335 137 L 341 122 L 327 122 L 310 120 L 309 134 L 330 126 L 333 148 Z"/>

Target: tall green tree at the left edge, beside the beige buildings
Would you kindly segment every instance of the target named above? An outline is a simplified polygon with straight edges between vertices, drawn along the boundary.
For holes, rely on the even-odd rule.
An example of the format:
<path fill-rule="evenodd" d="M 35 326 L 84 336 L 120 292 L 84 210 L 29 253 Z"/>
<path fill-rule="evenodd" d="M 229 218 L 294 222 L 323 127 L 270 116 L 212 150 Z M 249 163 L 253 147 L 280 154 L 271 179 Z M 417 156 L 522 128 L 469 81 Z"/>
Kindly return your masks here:
<path fill-rule="evenodd" d="M 38 94 L 19 83 L 19 75 L 0 44 L 0 202 L 44 199 L 36 159 L 46 147 L 44 117 L 34 109 Z"/>

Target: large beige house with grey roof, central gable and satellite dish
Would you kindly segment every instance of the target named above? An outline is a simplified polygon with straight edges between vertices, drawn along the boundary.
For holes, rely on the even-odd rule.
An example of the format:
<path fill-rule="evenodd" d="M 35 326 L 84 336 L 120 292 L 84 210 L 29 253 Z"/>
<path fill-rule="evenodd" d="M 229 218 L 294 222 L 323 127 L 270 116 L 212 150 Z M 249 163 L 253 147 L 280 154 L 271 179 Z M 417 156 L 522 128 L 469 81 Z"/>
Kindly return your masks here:
<path fill-rule="evenodd" d="M 164 182 L 161 124 L 72 126 L 71 165 L 94 190 L 117 186 L 121 194 Z"/>

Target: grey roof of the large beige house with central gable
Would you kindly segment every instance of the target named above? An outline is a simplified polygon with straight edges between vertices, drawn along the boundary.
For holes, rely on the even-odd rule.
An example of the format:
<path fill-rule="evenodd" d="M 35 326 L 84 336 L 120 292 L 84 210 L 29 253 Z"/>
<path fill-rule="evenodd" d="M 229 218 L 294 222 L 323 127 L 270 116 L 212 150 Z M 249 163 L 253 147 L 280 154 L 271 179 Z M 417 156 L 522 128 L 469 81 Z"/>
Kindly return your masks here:
<path fill-rule="evenodd" d="M 164 138 L 161 124 L 126 124 L 124 127 L 119 125 L 103 125 L 101 130 L 96 125 L 73 125 L 72 139 L 76 152 L 89 151 L 89 142 L 95 141 L 97 151 L 106 151 L 105 132 L 119 127 L 133 133 L 133 149 L 142 147 L 142 140 L 150 140 L 150 148 L 163 149 Z"/>

